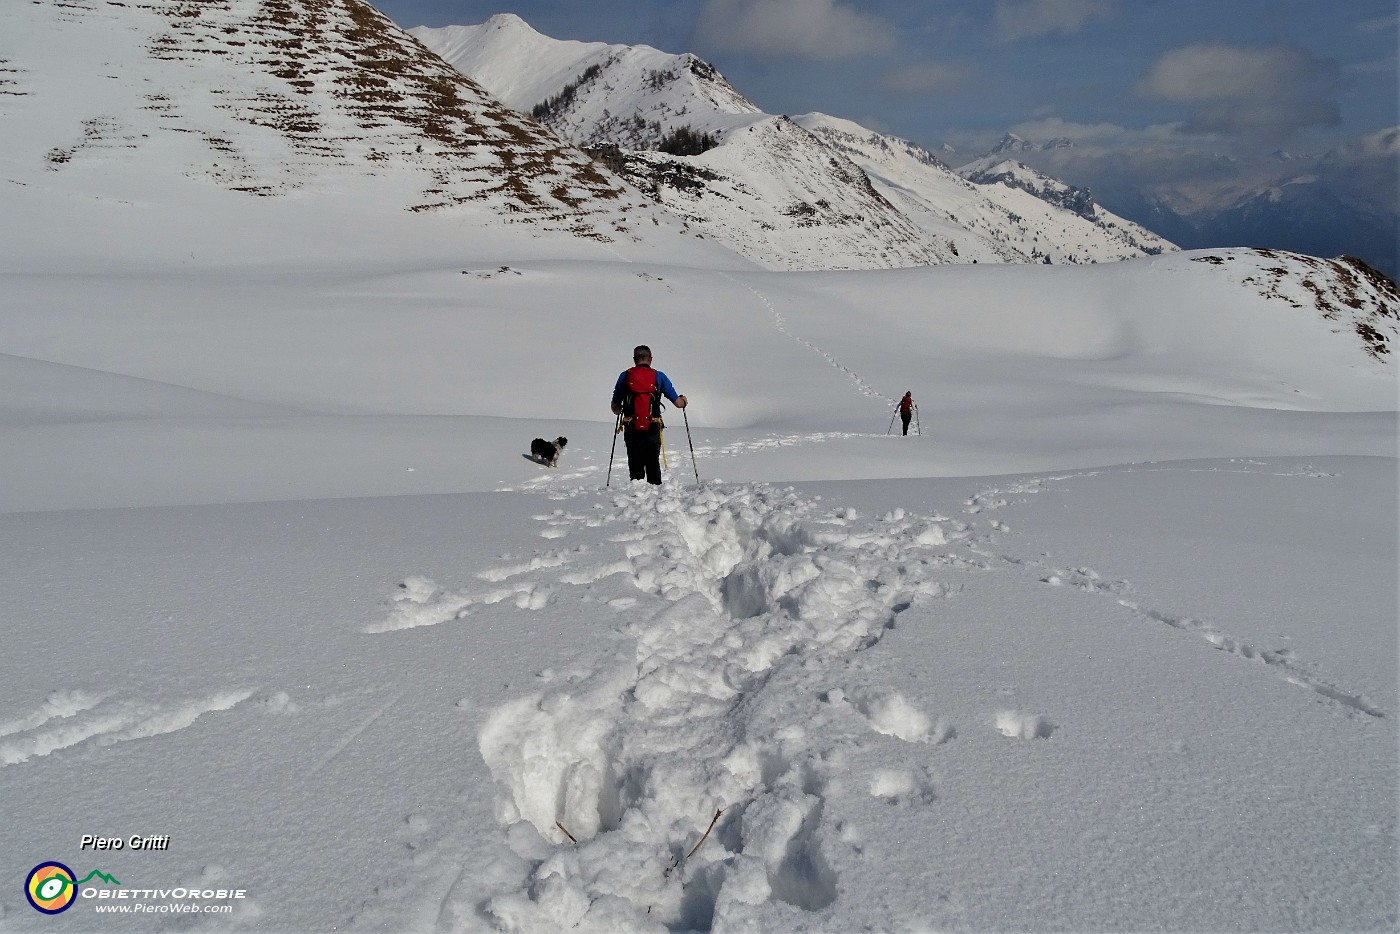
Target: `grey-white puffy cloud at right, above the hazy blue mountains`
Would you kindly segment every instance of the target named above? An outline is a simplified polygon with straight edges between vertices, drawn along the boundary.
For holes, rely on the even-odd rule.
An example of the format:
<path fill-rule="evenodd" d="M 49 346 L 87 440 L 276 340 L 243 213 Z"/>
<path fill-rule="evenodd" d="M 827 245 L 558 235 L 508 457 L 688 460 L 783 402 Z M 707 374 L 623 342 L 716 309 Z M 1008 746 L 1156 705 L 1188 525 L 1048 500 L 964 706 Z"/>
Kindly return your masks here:
<path fill-rule="evenodd" d="M 1292 46 L 1204 42 L 1159 57 L 1138 84 L 1190 108 L 1187 133 L 1278 143 L 1306 126 L 1340 122 L 1340 70 Z"/>

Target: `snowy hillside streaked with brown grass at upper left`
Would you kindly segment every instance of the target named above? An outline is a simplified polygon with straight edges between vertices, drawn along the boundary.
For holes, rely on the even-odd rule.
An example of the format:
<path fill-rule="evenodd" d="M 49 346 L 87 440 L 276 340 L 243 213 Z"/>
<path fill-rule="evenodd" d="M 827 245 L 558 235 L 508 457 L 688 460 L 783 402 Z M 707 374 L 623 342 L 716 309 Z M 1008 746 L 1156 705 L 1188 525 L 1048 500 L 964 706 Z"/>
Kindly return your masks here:
<path fill-rule="evenodd" d="M 211 244 L 206 221 L 232 214 L 295 228 L 288 206 L 308 202 L 347 211 L 335 225 L 367 251 L 412 230 L 449 238 L 465 220 L 564 241 L 680 231 L 361 0 L 11 3 L 0 60 L 0 179 L 14 210 L 71 214 L 66 237 L 90 239 L 94 255 L 120 249 L 132 224 L 164 230 L 172 256 Z M 167 223 L 151 224 L 153 211 Z M 50 228 L 7 223 L 8 258 L 52 252 L 34 234 Z M 316 239 L 305 232 L 235 239 L 230 259 L 284 255 Z"/>

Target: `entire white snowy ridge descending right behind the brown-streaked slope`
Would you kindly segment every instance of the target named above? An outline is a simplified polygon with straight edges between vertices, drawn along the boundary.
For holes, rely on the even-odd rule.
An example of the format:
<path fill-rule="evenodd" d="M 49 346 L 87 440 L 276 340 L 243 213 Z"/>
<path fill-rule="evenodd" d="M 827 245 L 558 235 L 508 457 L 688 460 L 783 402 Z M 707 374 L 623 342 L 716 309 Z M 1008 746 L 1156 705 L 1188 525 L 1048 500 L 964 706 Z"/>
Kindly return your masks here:
<path fill-rule="evenodd" d="M 410 32 L 510 106 L 606 147 L 609 165 L 770 269 L 1102 262 L 1172 248 L 1105 211 L 972 185 L 846 120 L 762 113 L 689 53 L 556 41 L 512 14 Z M 675 154 L 678 132 L 713 148 Z"/>

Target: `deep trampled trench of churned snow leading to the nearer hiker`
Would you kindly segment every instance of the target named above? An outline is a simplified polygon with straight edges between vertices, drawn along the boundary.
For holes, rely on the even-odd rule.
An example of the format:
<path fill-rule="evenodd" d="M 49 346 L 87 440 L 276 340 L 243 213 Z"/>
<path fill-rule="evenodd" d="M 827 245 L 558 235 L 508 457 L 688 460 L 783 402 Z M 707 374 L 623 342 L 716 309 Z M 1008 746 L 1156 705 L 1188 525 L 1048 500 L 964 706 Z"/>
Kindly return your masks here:
<path fill-rule="evenodd" d="M 605 494 L 592 510 L 566 506 L 535 517 L 550 539 L 592 529 L 596 542 L 596 529 L 616 527 L 606 539 L 616 549 L 503 559 L 477 571 L 505 583 L 484 592 L 448 594 L 430 580 L 406 580 L 388 618 L 364 632 L 448 623 L 501 601 L 540 609 L 563 588 L 612 576 L 641 592 L 608 604 L 626 637 L 613 644 L 626 648 L 595 667 L 540 672 L 540 690 L 484 720 L 479 749 L 519 864 L 493 874 L 487 889 L 496 895 L 484 902 L 463 900 L 472 885 L 458 865 L 440 879 L 447 888 L 440 921 L 710 930 L 773 903 L 813 913 L 819 927 L 819 912 L 839 892 L 833 865 L 841 860 L 829 857 L 861 853 L 840 819 L 853 793 L 892 807 L 938 807 L 931 758 L 948 755 L 939 748 L 956 742 L 960 728 L 1019 741 L 1053 741 L 1065 728 L 1039 711 L 1007 709 L 959 727 L 896 690 L 861 682 L 858 655 L 909 608 L 955 592 L 948 581 L 956 571 L 1016 574 L 1113 599 L 1137 622 L 1261 662 L 1348 716 L 1389 717 L 1287 650 L 1261 651 L 1204 620 L 1142 608 L 1128 599 L 1128 581 L 1077 562 L 997 550 L 1008 531 L 1004 510 L 1098 473 L 983 489 L 963 503 L 967 521 L 903 508 L 865 518 L 763 483 L 627 490 Z M 596 494 L 556 489 L 552 496 L 567 504 Z M 871 742 L 907 744 L 910 766 L 865 765 L 860 752 Z M 451 863 L 449 854 L 442 858 Z"/>

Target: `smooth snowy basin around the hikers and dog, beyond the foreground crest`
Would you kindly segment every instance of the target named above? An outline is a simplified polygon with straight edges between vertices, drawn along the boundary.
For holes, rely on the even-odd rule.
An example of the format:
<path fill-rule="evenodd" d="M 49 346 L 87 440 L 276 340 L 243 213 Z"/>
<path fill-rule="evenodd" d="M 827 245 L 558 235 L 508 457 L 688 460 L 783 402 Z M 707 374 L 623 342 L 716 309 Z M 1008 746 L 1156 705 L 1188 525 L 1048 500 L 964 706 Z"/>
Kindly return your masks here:
<path fill-rule="evenodd" d="M 560 260 L 493 230 L 353 270 L 325 251 L 0 274 L 0 508 L 491 490 L 559 434 L 571 475 L 601 479 L 638 340 L 734 480 L 773 479 L 759 455 L 798 442 L 822 455 L 781 458 L 787 479 L 1393 445 L 1394 353 L 1372 351 L 1400 346 L 1396 298 L 1310 258 L 792 276 Z M 937 445 L 874 444 L 906 389 Z"/>

